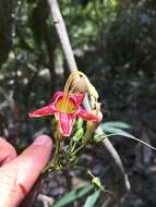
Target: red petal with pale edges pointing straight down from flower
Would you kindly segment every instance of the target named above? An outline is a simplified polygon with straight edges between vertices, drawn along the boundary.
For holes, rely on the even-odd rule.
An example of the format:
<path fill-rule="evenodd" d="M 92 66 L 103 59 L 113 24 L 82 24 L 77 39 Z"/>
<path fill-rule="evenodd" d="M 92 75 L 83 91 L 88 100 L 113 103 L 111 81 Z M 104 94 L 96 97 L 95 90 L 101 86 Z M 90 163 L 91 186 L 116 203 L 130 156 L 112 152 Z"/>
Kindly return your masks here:
<path fill-rule="evenodd" d="M 57 117 L 59 119 L 59 126 L 60 132 L 63 136 L 70 136 L 72 127 L 73 127 L 73 121 L 75 115 L 72 113 L 57 113 Z"/>

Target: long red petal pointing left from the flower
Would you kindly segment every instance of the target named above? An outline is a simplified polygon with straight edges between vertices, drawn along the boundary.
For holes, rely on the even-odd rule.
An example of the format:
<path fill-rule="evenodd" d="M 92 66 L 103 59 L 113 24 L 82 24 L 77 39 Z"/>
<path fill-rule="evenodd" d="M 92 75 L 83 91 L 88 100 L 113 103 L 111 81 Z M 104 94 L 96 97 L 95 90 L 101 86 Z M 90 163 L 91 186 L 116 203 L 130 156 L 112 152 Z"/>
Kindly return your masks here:
<path fill-rule="evenodd" d="M 48 105 L 46 107 L 43 107 L 40 109 L 37 109 L 31 113 L 28 113 L 29 118 L 39 118 L 45 115 L 51 115 L 55 112 L 57 112 L 57 109 L 53 107 L 53 105 Z"/>

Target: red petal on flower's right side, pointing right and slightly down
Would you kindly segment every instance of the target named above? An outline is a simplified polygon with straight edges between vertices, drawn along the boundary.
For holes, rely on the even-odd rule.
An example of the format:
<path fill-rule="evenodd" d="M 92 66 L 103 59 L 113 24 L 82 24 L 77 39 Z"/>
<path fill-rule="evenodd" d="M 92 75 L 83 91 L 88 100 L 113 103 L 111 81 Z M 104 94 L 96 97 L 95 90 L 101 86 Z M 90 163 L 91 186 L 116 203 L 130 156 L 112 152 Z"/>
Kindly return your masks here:
<path fill-rule="evenodd" d="M 88 120 L 88 121 L 95 121 L 95 122 L 99 122 L 99 118 L 95 114 L 88 113 L 86 110 L 84 110 L 82 107 L 79 107 L 79 111 L 76 113 L 77 117 L 83 118 L 84 120 Z"/>

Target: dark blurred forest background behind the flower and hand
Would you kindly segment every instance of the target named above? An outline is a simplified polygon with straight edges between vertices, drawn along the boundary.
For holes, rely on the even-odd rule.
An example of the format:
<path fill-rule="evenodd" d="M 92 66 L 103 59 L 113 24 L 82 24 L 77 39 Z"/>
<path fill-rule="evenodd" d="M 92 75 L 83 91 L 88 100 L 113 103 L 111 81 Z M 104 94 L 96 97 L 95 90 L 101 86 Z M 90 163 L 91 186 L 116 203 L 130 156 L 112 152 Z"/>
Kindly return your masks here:
<path fill-rule="evenodd" d="M 79 70 L 100 94 L 104 123 L 128 123 L 132 134 L 156 146 L 155 0 L 59 0 L 59 4 Z M 49 120 L 29 120 L 27 113 L 49 102 L 68 75 L 47 1 L 0 0 L 0 135 L 19 151 L 37 134 L 51 135 Z M 155 207 L 155 151 L 125 137 L 111 141 L 131 182 L 129 195 L 118 206 Z M 82 163 L 101 178 L 106 188 L 113 187 L 109 157 L 103 146 L 91 148 Z M 69 174 L 49 175 L 40 200 L 59 198 L 72 183 L 83 182 L 81 170 Z M 37 206 L 44 206 L 39 198 Z"/>

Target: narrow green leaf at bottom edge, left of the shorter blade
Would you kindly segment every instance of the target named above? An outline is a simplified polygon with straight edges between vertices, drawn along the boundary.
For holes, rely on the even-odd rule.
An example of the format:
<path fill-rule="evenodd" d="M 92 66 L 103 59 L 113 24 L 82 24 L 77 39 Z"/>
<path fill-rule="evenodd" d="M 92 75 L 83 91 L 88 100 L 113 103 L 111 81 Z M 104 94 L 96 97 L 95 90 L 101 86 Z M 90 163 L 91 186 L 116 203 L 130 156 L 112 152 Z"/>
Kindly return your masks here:
<path fill-rule="evenodd" d="M 52 207 L 63 207 L 70 203 L 74 202 L 75 199 L 81 198 L 82 196 L 87 194 L 93 188 L 94 188 L 94 186 L 92 184 L 88 184 L 83 187 L 73 190 L 70 193 L 65 194 L 63 197 L 61 197 Z"/>

